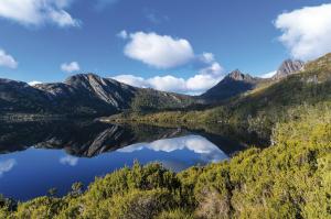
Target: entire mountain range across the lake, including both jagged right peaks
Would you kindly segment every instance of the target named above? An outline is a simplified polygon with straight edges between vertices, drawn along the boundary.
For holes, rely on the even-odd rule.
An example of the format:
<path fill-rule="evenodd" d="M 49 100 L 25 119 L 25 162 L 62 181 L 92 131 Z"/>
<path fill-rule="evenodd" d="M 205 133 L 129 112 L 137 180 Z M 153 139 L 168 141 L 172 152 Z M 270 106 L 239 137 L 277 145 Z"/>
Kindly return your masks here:
<path fill-rule="evenodd" d="M 0 79 L 0 113 L 2 117 L 18 113 L 99 117 L 124 111 L 183 109 L 237 97 L 297 73 L 303 65 L 300 61 L 287 59 L 280 65 L 277 74 L 268 79 L 253 77 L 236 69 L 201 96 L 137 88 L 95 74 L 78 74 L 63 83 L 34 86 Z"/>

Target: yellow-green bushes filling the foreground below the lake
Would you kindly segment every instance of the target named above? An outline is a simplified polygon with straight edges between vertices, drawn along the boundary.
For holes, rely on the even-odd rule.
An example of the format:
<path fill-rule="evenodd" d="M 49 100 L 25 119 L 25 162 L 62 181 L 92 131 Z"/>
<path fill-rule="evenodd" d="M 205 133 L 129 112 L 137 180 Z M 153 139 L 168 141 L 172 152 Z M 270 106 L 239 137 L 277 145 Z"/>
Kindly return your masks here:
<path fill-rule="evenodd" d="M 136 163 L 83 194 L 0 201 L 0 218 L 331 218 L 330 106 L 300 108 L 273 142 L 179 174 Z"/>

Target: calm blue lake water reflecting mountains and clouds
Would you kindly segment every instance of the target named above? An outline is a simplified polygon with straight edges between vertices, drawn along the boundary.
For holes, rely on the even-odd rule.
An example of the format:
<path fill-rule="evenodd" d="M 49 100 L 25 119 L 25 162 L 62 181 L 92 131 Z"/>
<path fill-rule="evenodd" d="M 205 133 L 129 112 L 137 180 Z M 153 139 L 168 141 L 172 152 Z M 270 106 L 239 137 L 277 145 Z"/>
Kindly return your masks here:
<path fill-rule="evenodd" d="M 229 158 L 244 147 L 226 138 L 182 129 L 89 121 L 0 125 L 0 194 L 18 200 L 88 185 L 134 161 L 174 172 Z"/>

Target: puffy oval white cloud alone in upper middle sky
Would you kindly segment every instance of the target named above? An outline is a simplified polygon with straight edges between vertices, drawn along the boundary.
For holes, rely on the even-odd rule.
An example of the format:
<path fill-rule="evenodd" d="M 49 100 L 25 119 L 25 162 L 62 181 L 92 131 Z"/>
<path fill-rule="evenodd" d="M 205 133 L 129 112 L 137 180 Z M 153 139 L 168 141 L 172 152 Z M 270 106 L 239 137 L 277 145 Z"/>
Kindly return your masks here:
<path fill-rule="evenodd" d="M 158 68 L 178 67 L 194 58 L 193 48 L 184 39 L 158 35 L 153 32 L 131 33 L 129 39 L 125 54 Z"/>

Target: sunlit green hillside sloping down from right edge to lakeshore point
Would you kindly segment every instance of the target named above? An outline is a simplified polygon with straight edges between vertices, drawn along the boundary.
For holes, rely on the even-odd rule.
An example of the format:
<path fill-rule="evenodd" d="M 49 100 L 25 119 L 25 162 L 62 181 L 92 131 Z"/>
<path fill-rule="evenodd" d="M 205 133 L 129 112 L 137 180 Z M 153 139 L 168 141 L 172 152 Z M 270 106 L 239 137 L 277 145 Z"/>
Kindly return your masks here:
<path fill-rule="evenodd" d="M 119 114 L 117 121 L 138 121 L 194 127 L 216 124 L 245 128 L 270 136 L 278 121 L 296 117 L 298 106 L 331 101 L 331 54 L 308 63 L 305 70 L 278 81 L 269 81 L 218 107 L 204 110 Z"/>

